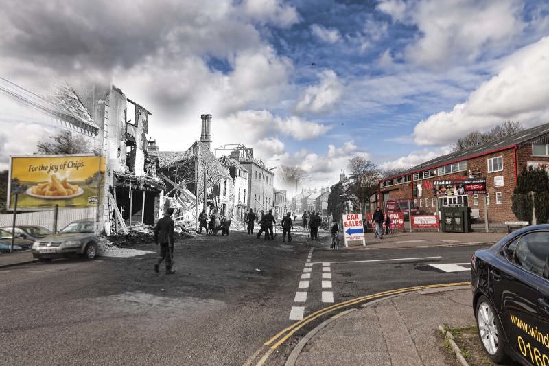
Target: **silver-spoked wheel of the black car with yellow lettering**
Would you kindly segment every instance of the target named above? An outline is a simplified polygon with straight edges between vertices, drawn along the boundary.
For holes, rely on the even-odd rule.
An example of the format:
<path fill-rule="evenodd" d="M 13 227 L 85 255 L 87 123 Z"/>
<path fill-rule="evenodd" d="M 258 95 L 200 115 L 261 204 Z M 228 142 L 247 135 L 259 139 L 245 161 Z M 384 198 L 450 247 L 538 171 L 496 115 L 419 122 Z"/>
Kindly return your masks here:
<path fill-rule="evenodd" d="M 476 322 L 480 343 L 488 357 L 494 363 L 504 362 L 507 355 L 501 339 L 503 332 L 492 304 L 484 295 L 477 301 Z"/>

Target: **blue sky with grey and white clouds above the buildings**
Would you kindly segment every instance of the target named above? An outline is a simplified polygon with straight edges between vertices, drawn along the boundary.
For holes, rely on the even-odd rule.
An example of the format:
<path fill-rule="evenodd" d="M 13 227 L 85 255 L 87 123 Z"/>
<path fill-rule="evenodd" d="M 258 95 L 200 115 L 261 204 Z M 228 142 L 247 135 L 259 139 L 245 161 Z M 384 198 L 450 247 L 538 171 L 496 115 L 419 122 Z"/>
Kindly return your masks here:
<path fill-rule="evenodd" d="M 503 120 L 549 122 L 549 1 L 0 5 L 4 78 L 37 92 L 112 82 L 152 112 L 161 150 L 187 149 L 210 113 L 214 148 L 299 165 L 310 187 L 336 183 L 354 156 L 408 168 Z M 27 130 L 25 143 L 40 138 Z M 0 130 L 0 159 L 21 136 Z"/>

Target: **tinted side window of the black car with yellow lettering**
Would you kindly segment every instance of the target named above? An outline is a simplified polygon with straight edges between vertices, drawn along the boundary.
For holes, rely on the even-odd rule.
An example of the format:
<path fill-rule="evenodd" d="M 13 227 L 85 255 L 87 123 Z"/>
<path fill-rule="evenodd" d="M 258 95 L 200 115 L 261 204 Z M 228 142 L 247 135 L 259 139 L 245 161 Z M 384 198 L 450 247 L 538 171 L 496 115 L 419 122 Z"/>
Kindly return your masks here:
<path fill-rule="evenodd" d="M 537 232 L 522 236 L 513 262 L 527 271 L 542 276 L 549 254 L 549 233 Z"/>

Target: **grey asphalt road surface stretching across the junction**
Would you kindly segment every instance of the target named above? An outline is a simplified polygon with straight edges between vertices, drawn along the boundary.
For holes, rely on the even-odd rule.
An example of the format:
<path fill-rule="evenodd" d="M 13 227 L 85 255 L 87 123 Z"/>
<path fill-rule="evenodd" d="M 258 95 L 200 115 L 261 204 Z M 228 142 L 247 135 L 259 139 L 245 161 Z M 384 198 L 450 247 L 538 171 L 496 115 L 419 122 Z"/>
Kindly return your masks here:
<path fill-rule="evenodd" d="M 314 242 L 309 284 L 300 289 L 310 253 L 306 241 L 283 243 L 279 236 L 264 242 L 245 233 L 185 240 L 176 243 L 175 275 L 154 273 L 154 254 L 5 268 L 0 270 L 0 360 L 6 365 L 242 365 L 294 323 L 289 317 L 298 291 L 307 292 L 299 304 L 306 316 L 330 304 L 322 301 L 323 291 L 339 302 L 382 290 L 468 281 L 467 268 L 445 273 L 430 264 L 467 263 L 478 249 L 333 252 Z M 357 262 L 371 260 L 380 261 Z M 331 287 L 323 288 L 323 280 Z M 283 363 L 295 341 L 268 364 Z"/>

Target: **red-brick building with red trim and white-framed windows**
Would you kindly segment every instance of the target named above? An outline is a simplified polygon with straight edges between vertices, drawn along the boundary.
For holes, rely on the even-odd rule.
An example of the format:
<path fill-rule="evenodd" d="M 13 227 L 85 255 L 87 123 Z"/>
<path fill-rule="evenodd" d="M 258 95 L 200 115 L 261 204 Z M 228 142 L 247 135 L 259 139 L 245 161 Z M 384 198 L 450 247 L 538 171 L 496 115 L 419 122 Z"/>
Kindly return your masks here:
<path fill-rule="evenodd" d="M 448 203 L 435 196 L 433 182 L 469 177 L 486 178 L 487 194 L 468 194 L 451 198 L 480 210 L 484 218 L 484 197 L 489 222 L 515 221 L 511 210 L 517 175 L 528 166 L 549 164 L 549 124 L 452 152 L 388 177 L 379 183 L 379 201 L 383 207 L 389 198 L 411 198 L 424 213 L 434 214 L 437 207 Z M 449 196 L 452 197 L 452 196 Z"/>

